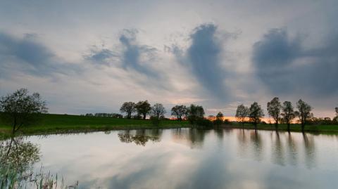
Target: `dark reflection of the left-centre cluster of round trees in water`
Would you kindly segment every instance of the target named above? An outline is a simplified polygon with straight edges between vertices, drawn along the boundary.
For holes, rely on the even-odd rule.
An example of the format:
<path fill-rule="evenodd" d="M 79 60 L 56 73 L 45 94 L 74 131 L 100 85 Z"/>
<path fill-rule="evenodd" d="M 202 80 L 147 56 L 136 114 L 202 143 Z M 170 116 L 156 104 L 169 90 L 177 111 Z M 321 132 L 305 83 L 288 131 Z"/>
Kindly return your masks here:
<path fill-rule="evenodd" d="M 151 133 L 148 133 L 145 129 L 139 129 L 136 133 L 131 133 L 129 130 L 118 133 L 118 138 L 123 143 L 135 143 L 136 145 L 145 146 L 148 141 L 161 141 L 161 135 L 162 131 L 160 129 L 152 129 Z"/>

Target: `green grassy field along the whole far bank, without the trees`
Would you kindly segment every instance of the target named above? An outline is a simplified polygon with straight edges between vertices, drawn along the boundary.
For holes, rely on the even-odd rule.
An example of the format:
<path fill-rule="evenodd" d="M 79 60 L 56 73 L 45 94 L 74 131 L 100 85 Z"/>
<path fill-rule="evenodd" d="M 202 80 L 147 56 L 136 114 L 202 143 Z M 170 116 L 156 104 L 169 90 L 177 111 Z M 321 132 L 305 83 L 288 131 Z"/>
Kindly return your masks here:
<path fill-rule="evenodd" d="M 90 131 L 108 131 L 118 129 L 170 129 L 189 127 L 187 121 L 164 120 L 160 126 L 153 126 L 150 120 L 118 119 L 109 117 L 84 117 L 79 115 L 44 115 L 42 122 L 20 130 L 25 135 L 49 133 L 77 133 Z M 242 129 L 242 124 L 223 125 L 226 128 Z M 252 124 L 244 124 L 244 129 L 254 129 Z M 273 124 L 259 124 L 259 130 L 275 130 Z M 287 131 L 286 124 L 279 125 L 279 131 Z M 299 124 L 292 124 L 291 131 L 301 131 Z M 306 132 L 338 133 L 338 125 L 306 125 Z M 0 122 L 0 136 L 11 133 L 11 126 Z"/>

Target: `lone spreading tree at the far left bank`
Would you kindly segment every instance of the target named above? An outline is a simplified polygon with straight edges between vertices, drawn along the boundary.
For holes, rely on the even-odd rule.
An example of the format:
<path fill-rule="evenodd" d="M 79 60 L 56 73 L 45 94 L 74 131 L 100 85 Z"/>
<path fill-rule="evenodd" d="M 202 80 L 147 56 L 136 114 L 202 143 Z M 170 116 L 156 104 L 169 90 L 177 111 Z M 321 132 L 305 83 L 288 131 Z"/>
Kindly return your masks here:
<path fill-rule="evenodd" d="M 0 98 L 1 119 L 12 126 L 13 134 L 23 126 L 37 123 L 40 115 L 47 112 L 46 102 L 39 93 L 28 93 L 27 89 L 18 89 Z"/>

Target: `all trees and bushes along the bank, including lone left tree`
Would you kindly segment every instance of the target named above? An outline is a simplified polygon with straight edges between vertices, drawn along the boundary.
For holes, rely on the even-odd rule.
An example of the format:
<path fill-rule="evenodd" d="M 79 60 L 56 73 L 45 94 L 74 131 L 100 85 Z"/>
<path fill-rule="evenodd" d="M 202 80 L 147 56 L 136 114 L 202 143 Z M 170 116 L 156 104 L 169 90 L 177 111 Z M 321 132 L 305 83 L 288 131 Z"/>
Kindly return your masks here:
<path fill-rule="evenodd" d="M 296 109 L 294 110 L 291 102 L 284 101 L 284 103 L 281 103 L 277 97 L 267 103 L 268 115 L 274 119 L 276 130 L 280 123 L 284 123 L 287 124 L 287 130 L 290 131 L 290 126 L 296 117 L 298 117 L 302 131 L 304 131 L 306 124 L 311 122 L 338 123 L 338 107 L 334 109 L 336 112 L 334 122 L 330 118 L 318 119 L 313 117 L 311 112 L 313 108 L 301 99 L 296 102 Z M 46 101 L 42 100 L 39 93 L 30 95 L 27 89 L 18 89 L 0 98 L 1 121 L 11 125 L 13 133 L 23 126 L 37 122 L 40 115 L 47 113 L 47 110 Z M 166 110 L 161 103 L 151 105 L 148 100 L 144 100 L 138 103 L 125 102 L 121 105 L 120 112 L 124 113 L 127 119 L 146 119 L 147 116 L 150 116 L 151 122 L 158 126 L 161 120 L 165 119 Z M 171 115 L 179 121 L 187 119 L 194 126 L 220 126 L 224 123 L 222 112 L 218 112 L 213 122 L 206 119 L 204 107 L 201 105 L 175 105 L 171 108 Z M 123 118 L 123 115 L 115 113 L 91 113 L 84 116 Z M 243 127 L 244 123 L 249 122 L 257 129 L 257 125 L 261 123 L 261 119 L 264 117 L 264 112 L 257 102 L 252 103 L 250 107 L 241 104 L 237 107 L 235 117 L 237 122 L 242 123 Z"/>

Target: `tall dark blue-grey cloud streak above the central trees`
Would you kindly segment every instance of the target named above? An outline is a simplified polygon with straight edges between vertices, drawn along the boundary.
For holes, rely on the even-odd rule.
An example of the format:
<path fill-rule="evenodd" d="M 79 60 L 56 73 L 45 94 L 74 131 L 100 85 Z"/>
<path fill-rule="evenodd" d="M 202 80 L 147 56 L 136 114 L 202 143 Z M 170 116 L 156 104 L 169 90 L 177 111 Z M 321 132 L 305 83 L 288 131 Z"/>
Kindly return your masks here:
<path fill-rule="evenodd" d="M 177 46 L 165 46 L 165 49 L 190 68 L 199 84 L 208 91 L 208 95 L 224 100 L 230 94 L 225 90 L 226 71 L 221 66 L 222 39 L 216 36 L 216 31 L 216 25 L 199 25 L 190 34 L 191 44 L 186 51 L 182 51 Z"/>

